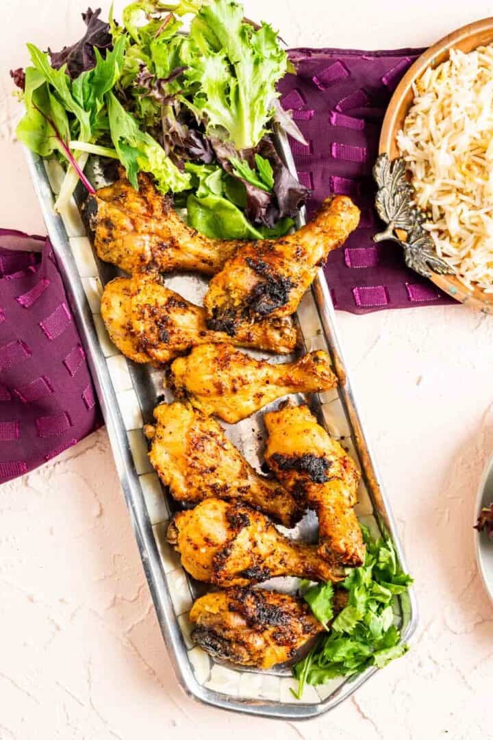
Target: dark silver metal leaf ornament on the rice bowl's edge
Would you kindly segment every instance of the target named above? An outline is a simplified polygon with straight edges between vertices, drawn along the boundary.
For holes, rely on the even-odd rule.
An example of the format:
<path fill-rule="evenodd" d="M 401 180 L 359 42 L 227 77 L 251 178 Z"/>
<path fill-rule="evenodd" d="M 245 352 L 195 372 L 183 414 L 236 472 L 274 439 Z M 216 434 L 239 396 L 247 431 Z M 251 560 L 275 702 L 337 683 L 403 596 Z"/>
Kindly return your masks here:
<path fill-rule="evenodd" d="M 373 178 L 378 185 L 375 207 L 387 229 L 375 234 L 373 240 L 390 239 L 404 249 L 404 260 L 408 267 L 423 277 L 454 275 L 455 271 L 438 257 L 428 232 L 423 228 L 426 215 L 412 204 L 414 191 L 406 176 L 406 163 L 398 158 L 390 161 L 387 154 L 381 154 L 373 167 Z M 401 239 L 395 229 L 406 232 Z"/>

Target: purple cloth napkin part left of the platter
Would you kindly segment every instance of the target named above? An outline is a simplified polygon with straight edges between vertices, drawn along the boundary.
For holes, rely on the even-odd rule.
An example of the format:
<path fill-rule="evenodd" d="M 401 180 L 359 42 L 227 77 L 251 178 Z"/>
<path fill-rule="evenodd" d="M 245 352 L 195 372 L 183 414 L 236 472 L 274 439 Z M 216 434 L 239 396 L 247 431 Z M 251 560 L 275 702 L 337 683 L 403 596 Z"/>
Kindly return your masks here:
<path fill-rule="evenodd" d="M 43 246 L 42 252 L 14 251 Z M 101 425 L 50 240 L 0 229 L 0 483 Z"/>

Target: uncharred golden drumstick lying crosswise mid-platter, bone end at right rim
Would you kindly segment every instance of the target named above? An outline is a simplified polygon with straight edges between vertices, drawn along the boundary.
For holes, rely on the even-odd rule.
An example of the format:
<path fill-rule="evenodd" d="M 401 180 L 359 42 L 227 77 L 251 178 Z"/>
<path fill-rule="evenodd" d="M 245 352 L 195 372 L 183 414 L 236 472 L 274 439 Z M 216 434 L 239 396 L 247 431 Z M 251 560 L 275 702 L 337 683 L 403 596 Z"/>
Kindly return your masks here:
<path fill-rule="evenodd" d="M 337 384 L 324 351 L 310 352 L 296 363 L 271 365 L 230 344 L 203 344 L 171 365 L 178 397 L 205 414 L 231 424 L 290 393 L 327 391 Z"/>

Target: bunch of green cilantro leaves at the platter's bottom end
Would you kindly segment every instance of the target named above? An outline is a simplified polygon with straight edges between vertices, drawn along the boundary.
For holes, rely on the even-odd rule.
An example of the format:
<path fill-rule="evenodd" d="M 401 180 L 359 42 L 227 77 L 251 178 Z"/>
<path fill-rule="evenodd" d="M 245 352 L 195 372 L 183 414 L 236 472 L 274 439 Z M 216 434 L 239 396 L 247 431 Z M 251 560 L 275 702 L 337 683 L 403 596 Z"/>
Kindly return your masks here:
<path fill-rule="evenodd" d="M 401 570 L 390 539 L 373 539 L 364 525 L 361 530 L 367 554 L 364 565 L 348 569 L 341 584 L 347 591 L 347 606 L 333 619 L 330 583 L 310 586 L 304 593 L 313 614 L 328 631 L 293 667 L 299 682 L 297 699 L 301 699 L 305 684 L 317 686 L 370 666 L 383 668 L 408 650 L 407 645 L 399 644 L 401 633 L 395 626 L 393 604 L 395 596 L 407 591 L 412 578 Z"/>

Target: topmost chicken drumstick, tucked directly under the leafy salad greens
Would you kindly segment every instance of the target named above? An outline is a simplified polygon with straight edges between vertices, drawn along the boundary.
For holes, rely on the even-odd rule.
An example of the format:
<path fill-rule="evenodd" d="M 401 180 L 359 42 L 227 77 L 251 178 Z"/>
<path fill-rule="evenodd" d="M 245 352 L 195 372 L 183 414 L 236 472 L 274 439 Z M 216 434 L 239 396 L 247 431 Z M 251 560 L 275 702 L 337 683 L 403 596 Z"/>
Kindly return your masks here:
<path fill-rule="evenodd" d="M 152 264 L 160 272 L 214 275 L 241 244 L 209 239 L 190 229 L 149 175 L 139 175 L 138 191 L 126 178 L 101 188 L 89 195 L 84 212 L 101 260 L 131 274 Z"/>

